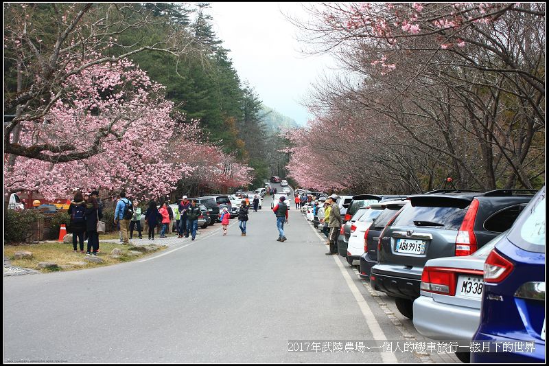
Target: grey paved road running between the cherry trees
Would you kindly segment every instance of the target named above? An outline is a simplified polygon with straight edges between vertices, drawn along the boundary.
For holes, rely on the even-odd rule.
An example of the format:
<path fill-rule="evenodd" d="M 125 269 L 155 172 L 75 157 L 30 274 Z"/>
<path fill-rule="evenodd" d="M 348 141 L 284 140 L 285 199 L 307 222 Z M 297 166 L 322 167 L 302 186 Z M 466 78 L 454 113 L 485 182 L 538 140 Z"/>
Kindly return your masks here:
<path fill-rule="evenodd" d="M 250 212 L 246 237 L 231 220 L 227 236 L 215 225 L 144 260 L 4 277 L 4 361 L 444 361 L 413 353 L 288 352 L 289 340 L 413 338 L 404 339 L 402 325 L 353 269 L 324 255 L 322 240 L 295 209 L 288 241 L 277 242 L 269 200 Z"/>

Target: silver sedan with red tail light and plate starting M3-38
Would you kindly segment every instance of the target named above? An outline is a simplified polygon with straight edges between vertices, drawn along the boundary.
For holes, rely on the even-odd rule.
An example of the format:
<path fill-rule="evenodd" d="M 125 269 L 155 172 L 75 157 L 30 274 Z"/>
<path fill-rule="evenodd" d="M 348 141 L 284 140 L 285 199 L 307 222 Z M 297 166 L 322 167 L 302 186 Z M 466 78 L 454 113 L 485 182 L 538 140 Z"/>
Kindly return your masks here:
<path fill-rule="evenodd" d="M 438 341 L 471 342 L 480 321 L 484 262 L 505 233 L 471 255 L 425 263 L 420 296 L 414 301 L 414 327 L 419 333 Z M 469 363 L 471 354 L 463 348 L 459 350 L 456 356 Z"/>

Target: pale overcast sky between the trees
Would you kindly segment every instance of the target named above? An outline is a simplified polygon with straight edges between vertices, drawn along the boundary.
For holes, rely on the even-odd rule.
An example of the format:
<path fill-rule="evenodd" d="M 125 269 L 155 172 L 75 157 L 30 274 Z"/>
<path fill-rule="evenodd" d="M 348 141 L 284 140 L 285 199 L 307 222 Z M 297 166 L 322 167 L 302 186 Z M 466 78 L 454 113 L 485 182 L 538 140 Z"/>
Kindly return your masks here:
<path fill-rule="evenodd" d="M 255 87 L 259 98 L 283 115 L 305 124 L 311 116 L 299 102 L 309 85 L 327 67 L 329 56 L 304 57 L 297 30 L 282 13 L 300 19 L 307 14 L 300 3 L 211 3 L 215 34 L 231 49 L 240 79 Z"/>

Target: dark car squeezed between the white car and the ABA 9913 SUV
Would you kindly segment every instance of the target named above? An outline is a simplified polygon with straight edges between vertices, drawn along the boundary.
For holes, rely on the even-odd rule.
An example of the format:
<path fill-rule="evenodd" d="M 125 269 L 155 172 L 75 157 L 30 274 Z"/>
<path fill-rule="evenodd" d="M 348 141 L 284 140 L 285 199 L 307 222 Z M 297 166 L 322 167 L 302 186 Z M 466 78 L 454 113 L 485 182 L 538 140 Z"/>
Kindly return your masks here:
<path fill-rule="evenodd" d="M 384 206 L 382 213 L 373 220 L 372 225 L 364 233 L 364 253 L 360 255 L 360 277 L 363 279 L 370 278 L 370 270 L 377 264 L 377 243 L 379 242 L 379 234 L 390 223 L 395 220 L 400 209 L 404 205 L 409 204 L 408 200 L 391 200 L 375 203 L 374 205 Z"/>

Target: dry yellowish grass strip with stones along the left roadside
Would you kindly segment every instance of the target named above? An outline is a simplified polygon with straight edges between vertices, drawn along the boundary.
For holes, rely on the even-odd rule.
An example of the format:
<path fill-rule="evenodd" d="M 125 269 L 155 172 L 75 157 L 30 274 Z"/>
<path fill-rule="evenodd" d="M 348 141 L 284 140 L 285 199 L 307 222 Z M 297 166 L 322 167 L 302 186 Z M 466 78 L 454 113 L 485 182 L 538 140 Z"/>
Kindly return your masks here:
<path fill-rule="evenodd" d="M 139 258 L 146 257 L 154 252 L 139 253 L 132 255 L 128 253 L 128 246 L 121 245 L 119 243 L 112 242 L 100 242 L 100 253 L 97 253 L 97 257 L 103 260 L 103 263 L 86 262 L 86 253 L 74 253 L 73 245 L 62 242 L 40 242 L 38 244 L 20 244 L 20 245 L 4 245 L 4 255 L 10 258 L 12 266 L 32 268 L 37 271 L 48 273 L 53 271 L 75 271 L 84 268 L 95 268 L 100 266 L 111 266 L 113 264 L 119 264 L 122 262 L 131 262 Z M 112 258 L 110 252 L 113 249 L 118 248 L 121 250 L 119 258 Z M 160 250 L 167 247 L 161 247 Z M 84 250 L 86 245 L 84 244 Z M 32 259 L 14 260 L 14 253 L 18 251 L 30 251 L 32 253 Z M 40 262 L 54 262 L 58 265 L 57 268 L 38 268 Z M 77 262 L 86 262 L 86 264 L 76 264 Z"/>

